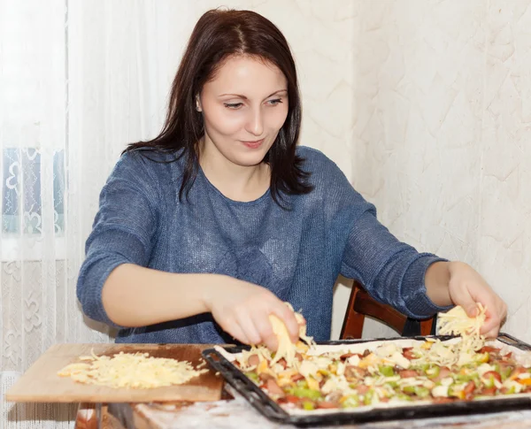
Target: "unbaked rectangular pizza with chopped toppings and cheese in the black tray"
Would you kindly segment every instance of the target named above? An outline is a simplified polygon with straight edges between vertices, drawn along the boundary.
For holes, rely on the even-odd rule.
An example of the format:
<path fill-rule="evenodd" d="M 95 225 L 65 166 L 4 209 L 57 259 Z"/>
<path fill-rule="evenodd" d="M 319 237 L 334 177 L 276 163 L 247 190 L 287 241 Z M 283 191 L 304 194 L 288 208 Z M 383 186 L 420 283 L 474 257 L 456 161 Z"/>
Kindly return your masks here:
<path fill-rule="evenodd" d="M 283 356 L 265 347 L 223 354 L 285 410 L 366 410 L 531 395 L 531 353 L 485 341 L 479 333 L 484 309 L 481 323 L 453 311 L 442 325 L 461 335 L 448 341 L 316 345 L 304 337 L 289 351 L 279 348 Z"/>

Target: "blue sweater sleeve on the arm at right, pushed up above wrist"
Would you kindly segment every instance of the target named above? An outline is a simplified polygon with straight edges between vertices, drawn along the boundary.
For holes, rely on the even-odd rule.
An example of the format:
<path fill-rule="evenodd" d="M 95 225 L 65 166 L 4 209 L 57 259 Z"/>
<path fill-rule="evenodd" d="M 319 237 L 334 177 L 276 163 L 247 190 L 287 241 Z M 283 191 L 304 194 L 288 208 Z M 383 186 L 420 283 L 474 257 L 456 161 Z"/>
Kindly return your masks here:
<path fill-rule="evenodd" d="M 412 318 L 428 318 L 449 309 L 435 305 L 428 298 L 425 286 L 427 267 L 445 259 L 419 253 L 398 241 L 378 221 L 373 204 L 352 188 L 339 167 L 327 157 L 320 155 L 314 171 L 317 188 L 325 195 L 325 212 L 331 223 L 331 249 L 337 243 L 344 244 L 342 275 L 359 280 L 376 300 Z"/>

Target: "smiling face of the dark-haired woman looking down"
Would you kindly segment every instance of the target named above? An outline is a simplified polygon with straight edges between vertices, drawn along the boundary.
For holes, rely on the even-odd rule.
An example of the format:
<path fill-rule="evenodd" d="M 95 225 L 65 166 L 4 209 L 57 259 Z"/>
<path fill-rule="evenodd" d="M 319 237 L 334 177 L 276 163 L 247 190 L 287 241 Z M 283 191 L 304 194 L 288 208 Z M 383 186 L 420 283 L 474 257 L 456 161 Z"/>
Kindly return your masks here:
<path fill-rule="evenodd" d="M 235 165 L 260 164 L 288 116 L 288 81 L 257 57 L 229 57 L 205 83 L 202 157 L 225 157 Z"/>

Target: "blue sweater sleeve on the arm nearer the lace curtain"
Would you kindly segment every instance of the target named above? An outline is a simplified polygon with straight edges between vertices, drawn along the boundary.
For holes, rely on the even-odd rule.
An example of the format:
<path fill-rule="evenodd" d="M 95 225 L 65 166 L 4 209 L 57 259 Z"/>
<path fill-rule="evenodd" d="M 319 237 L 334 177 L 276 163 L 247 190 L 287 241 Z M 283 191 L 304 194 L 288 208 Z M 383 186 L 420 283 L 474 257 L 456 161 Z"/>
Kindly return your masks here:
<path fill-rule="evenodd" d="M 158 192 L 143 162 L 140 155 L 127 153 L 114 167 L 100 194 L 77 281 L 83 312 L 111 326 L 117 325 L 104 310 L 104 282 L 120 264 L 146 266 L 157 229 Z"/>

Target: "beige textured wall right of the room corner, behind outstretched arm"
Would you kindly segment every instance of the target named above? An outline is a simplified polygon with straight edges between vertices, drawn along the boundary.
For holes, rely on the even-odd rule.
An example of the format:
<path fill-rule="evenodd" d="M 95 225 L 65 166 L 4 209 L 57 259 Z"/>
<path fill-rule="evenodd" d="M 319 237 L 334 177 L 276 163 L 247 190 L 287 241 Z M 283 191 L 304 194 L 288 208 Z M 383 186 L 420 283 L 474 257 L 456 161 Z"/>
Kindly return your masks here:
<path fill-rule="evenodd" d="M 476 267 L 531 341 L 531 2 L 355 3 L 355 187 L 399 238 Z"/>

